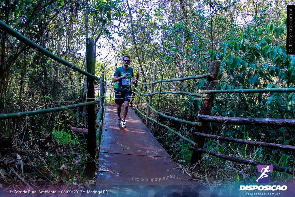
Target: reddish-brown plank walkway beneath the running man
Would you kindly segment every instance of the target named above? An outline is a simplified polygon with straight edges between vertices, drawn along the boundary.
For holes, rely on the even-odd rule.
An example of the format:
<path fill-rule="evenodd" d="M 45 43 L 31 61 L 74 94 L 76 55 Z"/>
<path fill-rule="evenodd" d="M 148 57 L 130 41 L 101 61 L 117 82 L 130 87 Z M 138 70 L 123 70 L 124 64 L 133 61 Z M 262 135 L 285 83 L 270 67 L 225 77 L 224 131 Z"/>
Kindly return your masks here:
<path fill-rule="evenodd" d="M 176 169 L 173 159 L 131 108 L 126 119 L 126 128 L 117 126 L 116 107 L 106 107 L 97 190 L 108 190 L 105 196 L 168 196 L 175 192 L 181 196 L 215 196 Z"/>

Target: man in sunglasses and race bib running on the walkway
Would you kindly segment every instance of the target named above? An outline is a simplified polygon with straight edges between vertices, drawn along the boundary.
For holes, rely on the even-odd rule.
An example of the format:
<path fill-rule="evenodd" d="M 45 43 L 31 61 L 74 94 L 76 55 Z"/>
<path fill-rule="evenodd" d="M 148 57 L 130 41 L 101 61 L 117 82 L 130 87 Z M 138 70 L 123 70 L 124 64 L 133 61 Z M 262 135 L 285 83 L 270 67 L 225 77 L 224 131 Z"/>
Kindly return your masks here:
<path fill-rule="evenodd" d="M 130 63 L 130 57 L 124 56 L 123 57 L 123 66 L 116 69 L 114 73 L 113 82 L 119 82 L 117 90 L 115 91 L 115 103 L 117 104 L 117 115 L 118 121 L 117 125 L 122 123 L 122 127 L 126 127 L 126 116 L 128 112 L 129 102 L 131 98 L 131 78 L 132 83 L 135 84 L 135 77 L 133 73 L 133 69 L 128 67 Z M 121 107 L 124 103 L 124 112 L 123 118 L 121 121 Z"/>

